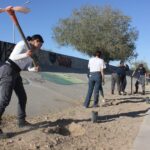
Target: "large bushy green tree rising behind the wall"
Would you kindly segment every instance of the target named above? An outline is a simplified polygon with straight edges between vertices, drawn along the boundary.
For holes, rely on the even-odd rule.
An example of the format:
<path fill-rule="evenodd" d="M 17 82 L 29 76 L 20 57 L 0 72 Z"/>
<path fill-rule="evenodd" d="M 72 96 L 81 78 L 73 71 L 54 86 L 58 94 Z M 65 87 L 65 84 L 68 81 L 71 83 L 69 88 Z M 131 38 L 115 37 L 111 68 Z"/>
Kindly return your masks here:
<path fill-rule="evenodd" d="M 72 46 L 89 56 L 100 49 L 106 61 L 133 59 L 137 37 L 131 18 L 110 6 L 75 9 L 53 29 L 53 38 L 61 46 Z"/>

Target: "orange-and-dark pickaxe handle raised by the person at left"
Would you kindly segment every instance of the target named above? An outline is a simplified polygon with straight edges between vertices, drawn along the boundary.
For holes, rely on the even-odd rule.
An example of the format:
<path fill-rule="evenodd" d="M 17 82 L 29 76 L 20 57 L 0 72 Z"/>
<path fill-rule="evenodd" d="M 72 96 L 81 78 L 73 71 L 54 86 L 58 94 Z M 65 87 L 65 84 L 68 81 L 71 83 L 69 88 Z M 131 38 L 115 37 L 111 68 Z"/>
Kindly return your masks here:
<path fill-rule="evenodd" d="M 10 15 L 11 19 L 13 20 L 13 23 L 16 25 L 16 27 L 17 27 L 17 29 L 18 29 L 18 31 L 19 31 L 19 33 L 20 33 L 20 35 L 21 35 L 21 37 L 22 37 L 22 39 L 23 39 L 23 41 L 24 41 L 24 43 L 25 43 L 25 45 L 27 47 L 27 49 L 30 50 L 31 47 L 30 47 L 30 45 L 28 44 L 28 42 L 26 40 L 26 37 L 25 37 L 25 35 L 24 35 L 24 33 L 23 33 L 22 29 L 21 29 L 21 26 L 20 26 L 20 24 L 18 22 L 18 19 L 16 17 L 16 14 L 15 14 L 14 10 L 11 10 L 11 9 L 7 10 L 7 13 Z M 34 60 L 33 60 L 33 65 L 36 67 L 36 63 L 35 63 Z"/>

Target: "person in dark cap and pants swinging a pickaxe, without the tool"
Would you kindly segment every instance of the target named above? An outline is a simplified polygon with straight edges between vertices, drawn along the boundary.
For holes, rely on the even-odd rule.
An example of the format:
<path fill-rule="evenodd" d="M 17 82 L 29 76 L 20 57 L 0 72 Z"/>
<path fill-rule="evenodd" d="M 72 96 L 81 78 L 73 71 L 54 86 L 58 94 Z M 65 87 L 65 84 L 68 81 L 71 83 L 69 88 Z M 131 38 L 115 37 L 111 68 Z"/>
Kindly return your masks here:
<path fill-rule="evenodd" d="M 24 127 L 31 125 L 26 118 L 27 96 L 23 87 L 21 70 L 39 71 L 39 66 L 32 67 L 33 59 L 31 56 L 39 50 L 43 44 L 43 38 L 35 34 L 27 38 L 31 50 L 26 48 L 25 42 L 20 41 L 14 47 L 9 59 L 0 67 L 0 121 L 5 108 L 9 105 L 12 92 L 15 91 L 18 98 L 18 126 Z M 0 132 L 0 138 L 4 133 Z"/>

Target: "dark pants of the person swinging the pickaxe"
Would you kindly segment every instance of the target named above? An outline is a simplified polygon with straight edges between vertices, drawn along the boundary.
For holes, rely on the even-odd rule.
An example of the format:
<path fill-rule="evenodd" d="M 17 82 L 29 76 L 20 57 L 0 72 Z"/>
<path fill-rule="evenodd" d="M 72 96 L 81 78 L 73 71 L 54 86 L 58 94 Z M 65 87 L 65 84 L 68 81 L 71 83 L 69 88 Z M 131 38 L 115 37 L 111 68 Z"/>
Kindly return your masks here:
<path fill-rule="evenodd" d="M 18 97 L 18 119 L 25 119 L 27 96 L 22 78 L 11 65 L 4 64 L 0 67 L 0 118 L 10 103 L 13 90 Z"/>

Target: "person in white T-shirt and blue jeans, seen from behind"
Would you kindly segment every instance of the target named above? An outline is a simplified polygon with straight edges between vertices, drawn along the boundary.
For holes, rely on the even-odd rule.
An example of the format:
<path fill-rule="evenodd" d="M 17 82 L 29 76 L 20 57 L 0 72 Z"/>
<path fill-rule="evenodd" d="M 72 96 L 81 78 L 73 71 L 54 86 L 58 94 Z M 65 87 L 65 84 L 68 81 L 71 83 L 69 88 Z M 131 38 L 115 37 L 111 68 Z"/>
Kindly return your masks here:
<path fill-rule="evenodd" d="M 94 57 L 89 60 L 88 68 L 89 73 L 89 84 L 86 99 L 84 101 L 84 107 L 88 108 L 91 100 L 91 96 L 94 89 L 94 104 L 93 107 L 98 107 L 99 102 L 99 90 L 104 82 L 104 60 L 101 59 L 101 51 L 96 51 Z"/>

